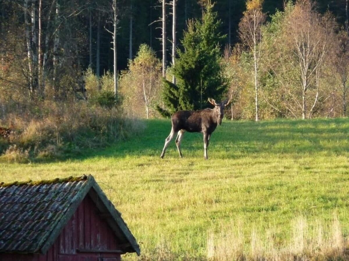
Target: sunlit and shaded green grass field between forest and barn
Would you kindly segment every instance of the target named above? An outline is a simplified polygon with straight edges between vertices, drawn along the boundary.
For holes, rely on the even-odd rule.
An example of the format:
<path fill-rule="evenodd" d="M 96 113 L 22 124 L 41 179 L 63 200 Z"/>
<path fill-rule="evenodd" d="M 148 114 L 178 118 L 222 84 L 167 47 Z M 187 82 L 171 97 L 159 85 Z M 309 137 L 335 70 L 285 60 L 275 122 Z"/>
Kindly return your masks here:
<path fill-rule="evenodd" d="M 76 158 L 0 163 L 0 181 L 94 175 L 149 260 L 206 259 L 229 229 L 246 252 L 253 235 L 264 244 L 272 234 L 282 248 L 294 243 L 299 218 L 326 234 L 334 213 L 349 235 L 348 119 L 223 121 L 208 160 L 198 133 L 184 134 L 182 159 L 174 141 L 160 159 L 170 121 L 146 125 L 142 135 Z"/>

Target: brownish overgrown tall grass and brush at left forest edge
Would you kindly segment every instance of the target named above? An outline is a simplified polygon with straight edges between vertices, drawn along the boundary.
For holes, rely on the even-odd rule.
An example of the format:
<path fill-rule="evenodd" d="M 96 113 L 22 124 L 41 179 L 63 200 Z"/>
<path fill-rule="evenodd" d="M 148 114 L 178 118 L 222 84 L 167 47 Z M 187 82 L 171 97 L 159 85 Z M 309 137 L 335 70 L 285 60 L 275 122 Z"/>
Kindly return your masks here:
<path fill-rule="evenodd" d="M 31 104 L 6 113 L 0 126 L 15 130 L 8 139 L 0 137 L 0 159 L 12 162 L 106 146 L 144 129 L 142 122 L 125 117 L 117 107 L 103 108 L 86 101 Z"/>

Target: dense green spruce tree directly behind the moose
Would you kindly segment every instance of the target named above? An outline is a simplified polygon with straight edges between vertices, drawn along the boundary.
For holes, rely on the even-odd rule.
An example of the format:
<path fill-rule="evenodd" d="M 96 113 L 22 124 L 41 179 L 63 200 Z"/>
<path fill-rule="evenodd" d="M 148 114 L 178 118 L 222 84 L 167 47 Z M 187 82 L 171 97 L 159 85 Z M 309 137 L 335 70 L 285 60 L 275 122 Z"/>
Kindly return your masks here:
<path fill-rule="evenodd" d="M 227 90 L 227 80 L 221 70 L 219 43 L 225 38 L 219 32 L 221 22 L 210 1 L 204 5 L 200 20 L 188 23 L 181 41 L 184 50 L 178 49 L 178 59 L 173 66 L 177 86 L 165 80 L 163 101 L 169 115 L 176 110 L 199 110 L 208 106 L 213 97 L 220 100 Z"/>

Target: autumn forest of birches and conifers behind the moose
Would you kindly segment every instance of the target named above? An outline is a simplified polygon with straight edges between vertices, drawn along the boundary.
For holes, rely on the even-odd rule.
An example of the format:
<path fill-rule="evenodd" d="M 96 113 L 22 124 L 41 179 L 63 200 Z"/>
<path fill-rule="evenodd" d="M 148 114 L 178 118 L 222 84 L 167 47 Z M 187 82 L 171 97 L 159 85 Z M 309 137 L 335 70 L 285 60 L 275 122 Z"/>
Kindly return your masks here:
<path fill-rule="evenodd" d="M 1 151 L 94 147 L 209 97 L 232 120 L 348 115 L 347 0 L 0 6 L 1 126 L 20 134 Z"/>

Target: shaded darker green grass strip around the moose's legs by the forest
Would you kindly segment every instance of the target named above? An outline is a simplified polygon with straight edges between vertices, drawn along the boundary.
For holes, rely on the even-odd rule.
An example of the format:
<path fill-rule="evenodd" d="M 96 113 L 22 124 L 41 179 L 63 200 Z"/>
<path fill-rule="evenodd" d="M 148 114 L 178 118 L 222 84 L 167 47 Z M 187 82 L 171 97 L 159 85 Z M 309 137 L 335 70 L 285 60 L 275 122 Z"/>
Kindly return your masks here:
<path fill-rule="evenodd" d="M 91 157 L 159 157 L 165 138 L 171 130 L 170 120 L 147 120 L 144 132 L 109 147 L 85 151 L 70 151 L 64 158 L 35 160 L 35 162 L 84 160 Z M 209 154 L 218 158 L 257 157 L 260 153 L 313 154 L 325 152 L 347 155 L 349 152 L 349 119 L 312 119 L 271 121 L 224 121 L 211 136 Z M 200 133 L 185 133 L 181 144 L 184 157 L 196 157 L 203 153 Z M 166 156 L 172 157 L 177 149 L 174 139 Z M 168 155 L 170 152 L 170 155 Z M 214 156 L 215 157 L 215 156 Z"/>

